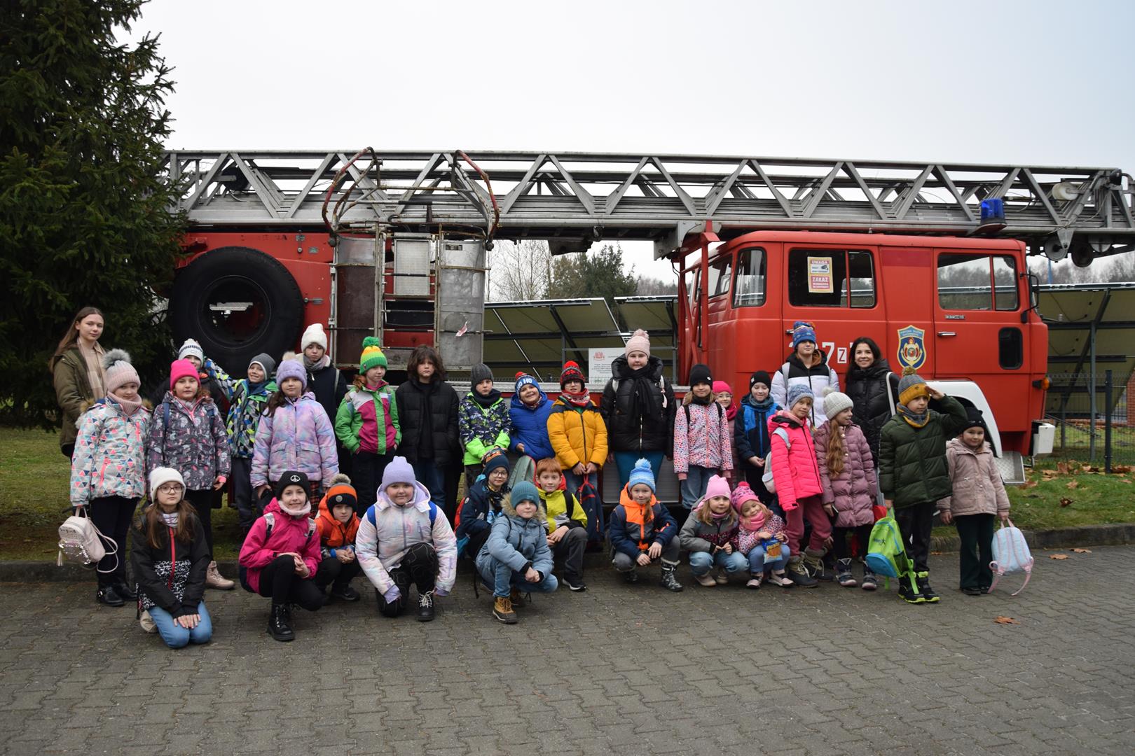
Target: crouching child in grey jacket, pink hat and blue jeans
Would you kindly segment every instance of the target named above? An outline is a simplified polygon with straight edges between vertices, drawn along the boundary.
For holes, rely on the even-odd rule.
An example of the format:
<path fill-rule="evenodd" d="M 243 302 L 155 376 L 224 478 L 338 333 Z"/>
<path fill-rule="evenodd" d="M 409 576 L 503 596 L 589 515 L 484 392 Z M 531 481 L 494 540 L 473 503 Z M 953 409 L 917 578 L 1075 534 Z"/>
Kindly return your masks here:
<path fill-rule="evenodd" d="M 730 575 L 748 569 L 749 560 L 733 547 L 737 528 L 729 482 L 714 475 L 706 486 L 706 495 L 686 518 L 679 534 L 682 549 L 690 552 L 690 571 L 699 585 L 706 588 L 725 585 Z M 711 575 L 714 568 L 716 571 Z"/>

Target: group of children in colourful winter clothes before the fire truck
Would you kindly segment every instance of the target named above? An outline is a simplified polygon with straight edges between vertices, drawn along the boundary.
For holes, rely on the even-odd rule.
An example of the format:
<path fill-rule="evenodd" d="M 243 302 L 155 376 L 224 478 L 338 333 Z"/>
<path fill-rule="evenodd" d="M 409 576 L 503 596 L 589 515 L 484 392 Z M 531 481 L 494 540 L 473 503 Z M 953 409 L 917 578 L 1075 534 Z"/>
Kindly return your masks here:
<path fill-rule="evenodd" d="M 406 610 L 413 586 L 418 619 L 428 621 L 434 597 L 453 587 L 460 554 L 493 589 L 494 615 L 513 623 L 524 593 L 557 588 L 557 561 L 562 581 L 586 589 L 585 549 L 604 536 L 628 583 L 638 580 L 639 568 L 658 563 L 661 584 L 682 591 L 684 550 L 705 587 L 733 575 L 747 576 L 750 588 L 766 579 L 813 587 L 834 574 L 842 586 L 869 591 L 876 578 L 866 567 L 861 578 L 854 576 L 849 542 L 861 555 L 877 498 L 909 540 L 917 589 L 901 587 L 906 601 L 939 600 L 926 563 L 938 511 L 962 538 L 961 588 L 972 595 L 989 589 L 994 516 L 1007 516 L 1008 499 L 981 417 L 914 371 L 898 383 L 897 414 L 883 425 L 874 459 L 852 422 L 851 399 L 834 387 L 816 397 L 810 380 L 785 377 L 781 406 L 771 397 L 775 381 L 757 371 L 733 406 L 730 387 L 696 365 L 673 413 L 674 469 L 689 510 L 679 528 L 655 495 L 650 453 L 630 469 L 604 524 L 598 472 L 608 459 L 609 418 L 591 402 L 574 363 L 564 366 L 555 401 L 524 374 L 506 401 L 478 365 L 471 390 L 456 402 L 439 389 L 440 360 L 424 348 L 412 372 L 426 398 L 402 401 L 385 382 L 377 340 L 367 339 L 359 375 L 342 390 L 333 422 L 326 398 L 308 390 L 311 369 L 327 368 L 320 335 L 321 328 L 305 331 L 302 360 L 285 356 L 277 364 L 258 355 L 238 380 L 186 342 L 152 413 L 137 396 L 128 355 L 108 352 L 107 396 L 77 423 L 73 504 L 90 507 L 110 530 L 104 535 L 123 543 L 137 499 L 149 493 L 153 503 L 131 534 L 134 585 L 117 554 L 108 554 L 114 563 L 100 563 L 100 602 L 137 601 L 170 646 L 207 640 L 203 588 L 234 586 L 212 560 L 213 492 L 229 477 L 243 535 L 238 579 L 271 598 L 268 629 L 279 640 L 294 637 L 292 605 L 314 611 L 328 598 L 358 601 L 351 580 L 360 575 L 387 617 Z M 205 382 L 222 392 L 225 417 Z M 340 391 L 337 377 L 328 383 Z M 942 411 L 928 409 L 931 399 Z M 447 415 L 451 401 L 456 406 Z M 436 478 L 442 452 L 457 444 L 466 495 L 451 528 Z M 350 456 L 355 485 L 339 474 L 340 453 Z"/>

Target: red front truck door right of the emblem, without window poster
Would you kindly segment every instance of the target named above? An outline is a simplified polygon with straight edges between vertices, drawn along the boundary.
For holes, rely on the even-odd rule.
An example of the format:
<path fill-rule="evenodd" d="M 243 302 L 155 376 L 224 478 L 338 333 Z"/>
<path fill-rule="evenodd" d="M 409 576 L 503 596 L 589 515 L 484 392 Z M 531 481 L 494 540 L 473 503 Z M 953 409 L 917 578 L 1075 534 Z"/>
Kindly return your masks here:
<path fill-rule="evenodd" d="M 936 375 L 975 381 L 997 408 L 999 426 L 1028 427 L 1024 398 L 1032 388 L 1019 315 L 1027 297 L 1008 252 L 934 250 Z"/>

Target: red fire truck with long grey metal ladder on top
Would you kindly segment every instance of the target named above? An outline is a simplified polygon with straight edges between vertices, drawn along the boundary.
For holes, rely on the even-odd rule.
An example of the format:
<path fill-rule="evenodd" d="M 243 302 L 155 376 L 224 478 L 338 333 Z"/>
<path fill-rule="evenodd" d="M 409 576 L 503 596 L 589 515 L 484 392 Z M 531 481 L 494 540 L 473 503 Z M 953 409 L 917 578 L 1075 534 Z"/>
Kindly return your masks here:
<path fill-rule="evenodd" d="M 170 152 L 167 169 L 191 222 L 174 331 L 222 365 L 323 322 L 344 366 L 377 333 L 395 371 L 430 343 L 460 373 L 480 362 L 496 239 L 649 239 L 681 275 L 679 376 L 707 362 L 743 385 L 798 320 L 843 373 L 869 335 L 985 410 L 1018 467 L 1051 449 L 1026 255 L 1086 265 L 1135 240 L 1113 168 L 368 148 Z"/>

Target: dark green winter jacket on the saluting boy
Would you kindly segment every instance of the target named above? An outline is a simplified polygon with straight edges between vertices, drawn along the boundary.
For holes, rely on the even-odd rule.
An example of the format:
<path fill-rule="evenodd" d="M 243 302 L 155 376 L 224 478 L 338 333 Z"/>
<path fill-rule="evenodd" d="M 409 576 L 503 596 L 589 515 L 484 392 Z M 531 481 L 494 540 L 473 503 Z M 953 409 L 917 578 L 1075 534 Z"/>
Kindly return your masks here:
<path fill-rule="evenodd" d="M 945 414 L 927 410 L 930 419 L 920 428 L 896 415 L 880 431 L 878 487 L 896 509 L 950 495 L 945 442 L 961 433 L 968 419 L 966 408 L 953 397 L 943 397 L 939 404 Z"/>

